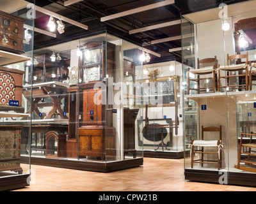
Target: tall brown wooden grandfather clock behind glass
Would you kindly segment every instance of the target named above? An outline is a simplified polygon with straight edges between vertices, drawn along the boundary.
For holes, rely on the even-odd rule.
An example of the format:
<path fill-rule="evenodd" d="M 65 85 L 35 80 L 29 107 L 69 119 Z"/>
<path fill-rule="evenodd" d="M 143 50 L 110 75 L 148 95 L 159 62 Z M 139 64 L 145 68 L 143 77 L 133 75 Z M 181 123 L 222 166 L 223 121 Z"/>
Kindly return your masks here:
<path fill-rule="evenodd" d="M 83 45 L 82 52 L 79 60 L 79 157 L 103 160 L 116 154 L 116 130 L 111 105 L 103 99 L 107 98 L 106 89 L 94 87 L 97 82 L 104 86 L 108 77 L 114 77 L 115 45 L 92 41 Z"/>

